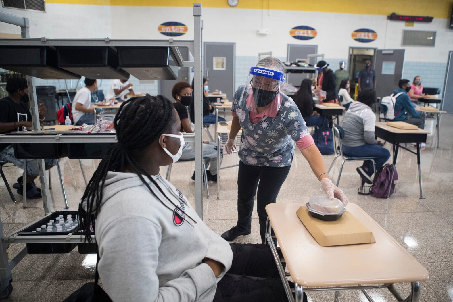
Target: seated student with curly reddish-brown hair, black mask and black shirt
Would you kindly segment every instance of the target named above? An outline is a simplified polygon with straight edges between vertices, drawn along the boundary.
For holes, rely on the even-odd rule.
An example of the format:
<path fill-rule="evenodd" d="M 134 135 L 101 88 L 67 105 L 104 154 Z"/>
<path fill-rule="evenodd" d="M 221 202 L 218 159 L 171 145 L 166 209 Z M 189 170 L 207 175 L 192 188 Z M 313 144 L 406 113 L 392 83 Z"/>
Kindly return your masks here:
<path fill-rule="evenodd" d="M 171 94 L 174 99 L 173 106 L 178 112 L 179 120 L 181 120 L 181 131 L 185 133 L 193 133 L 190 127 L 186 106 L 192 102 L 192 88 L 188 82 L 178 82 L 173 86 Z M 220 162 L 222 163 L 223 149 L 221 150 Z M 206 166 L 209 164 L 209 170 L 206 170 L 207 179 L 217 182 L 217 144 L 214 142 L 203 141 L 203 157 L 206 158 Z M 183 154 L 181 159 L 195 158 L 195 149 L 186 143 L 183 146 Z M 192 179 L 195 180 L 195 172 L 193 172 Z"/>

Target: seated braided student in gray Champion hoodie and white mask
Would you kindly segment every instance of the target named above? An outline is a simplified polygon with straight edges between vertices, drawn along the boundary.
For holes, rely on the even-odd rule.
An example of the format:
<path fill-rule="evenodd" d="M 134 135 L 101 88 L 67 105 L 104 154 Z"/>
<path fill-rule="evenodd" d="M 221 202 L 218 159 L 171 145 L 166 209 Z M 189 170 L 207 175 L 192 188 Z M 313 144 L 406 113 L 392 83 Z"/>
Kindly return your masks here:
<path fill-rule="evenodd" d="M 170 101 L 147 95 L 126 103 L 114 120 L 118 143 L 79 207 L 88 240 L 90 225 L 95 230 L 99 276 L 111 300 L 286 301 L 267 245 L 228 244 L 160 176 L 184 145 Z"/>

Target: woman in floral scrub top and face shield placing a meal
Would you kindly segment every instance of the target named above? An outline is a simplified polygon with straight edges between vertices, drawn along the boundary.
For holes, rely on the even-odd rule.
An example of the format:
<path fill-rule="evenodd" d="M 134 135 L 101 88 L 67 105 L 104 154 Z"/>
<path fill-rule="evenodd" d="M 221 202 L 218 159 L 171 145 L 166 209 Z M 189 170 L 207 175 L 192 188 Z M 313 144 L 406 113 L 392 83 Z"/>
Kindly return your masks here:
<path fill-rule="evenodd" d="M 328 197 L 348 200 L 342 190 L 328 179 L 321 153 L 294 101 L 280 92 L 285 68 L 277 58 L 267 57 L 251 67 L 246 85 L 235 93 L 231 114 L 233 120 L 226 152 L 236 148 L 236 134 L 242 129 L 237 177 L 238 220 L 222 234 L 227 241 L 251 233 L 253 197 L 257 194 L 260 235 L 264 242 L 267 213 L 265 206 L 275 199 L 286 179 L 297 148 L 307 159 L 313 173 Z"/>

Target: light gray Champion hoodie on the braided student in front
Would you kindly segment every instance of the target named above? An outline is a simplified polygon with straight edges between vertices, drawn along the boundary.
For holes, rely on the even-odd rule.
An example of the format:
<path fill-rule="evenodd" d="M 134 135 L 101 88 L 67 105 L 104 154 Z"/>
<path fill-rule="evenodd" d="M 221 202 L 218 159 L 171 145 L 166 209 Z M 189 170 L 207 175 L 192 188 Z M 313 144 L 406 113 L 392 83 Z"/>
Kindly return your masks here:
<path fill-rule="evenodd" d="M 211 302 L 217 282 L 231 267 L 230 245 L 203 223 L 171 183 L 160 175 L 153 178 L 172 201 L 148 180 L 166 206 L 136 174 L 107 173 L 96 220 L 102 284 L 115 302 Z M 174 215 L 176 206 L 187 220 Z M 219 277 L 202 264 L 204 258 L 225 265 Z"/>

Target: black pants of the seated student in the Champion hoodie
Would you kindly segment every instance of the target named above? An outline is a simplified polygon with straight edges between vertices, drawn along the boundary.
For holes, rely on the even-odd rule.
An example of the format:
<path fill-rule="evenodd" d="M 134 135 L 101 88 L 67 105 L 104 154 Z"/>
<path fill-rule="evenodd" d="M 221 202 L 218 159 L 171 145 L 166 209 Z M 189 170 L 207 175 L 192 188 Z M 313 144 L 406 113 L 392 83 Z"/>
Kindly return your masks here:
<path fill-rule="evenodd" d="M 267 244 L 232 243 L 231 268 L 217 284 L 213 302 L 287 301 Z"/>

